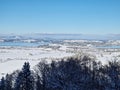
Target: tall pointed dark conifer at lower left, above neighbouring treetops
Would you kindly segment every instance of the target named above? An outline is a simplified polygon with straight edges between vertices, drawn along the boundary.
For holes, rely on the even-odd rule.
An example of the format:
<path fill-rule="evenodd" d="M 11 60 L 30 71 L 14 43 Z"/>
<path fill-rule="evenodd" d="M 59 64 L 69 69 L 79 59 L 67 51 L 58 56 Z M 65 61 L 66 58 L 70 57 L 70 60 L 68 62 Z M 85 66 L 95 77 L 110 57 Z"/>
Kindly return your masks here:
<path fill-rule="evenodd" d="M 22 71 L 16 79 L 15 90 L 34 90 L 34 79 L 31 75 L 30 65 L 28 62 L 25 62 Z"/>

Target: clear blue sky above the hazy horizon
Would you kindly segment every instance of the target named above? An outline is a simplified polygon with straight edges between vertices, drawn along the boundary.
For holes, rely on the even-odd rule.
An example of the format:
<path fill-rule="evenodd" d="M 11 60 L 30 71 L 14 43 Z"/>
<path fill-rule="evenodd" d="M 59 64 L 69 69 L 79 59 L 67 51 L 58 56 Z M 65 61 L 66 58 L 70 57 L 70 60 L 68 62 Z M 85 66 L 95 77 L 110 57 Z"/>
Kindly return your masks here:
<path fill-rule="evenodd" d="M 0 0 L 0 33 L 120 34 L 120 0 Z"/>

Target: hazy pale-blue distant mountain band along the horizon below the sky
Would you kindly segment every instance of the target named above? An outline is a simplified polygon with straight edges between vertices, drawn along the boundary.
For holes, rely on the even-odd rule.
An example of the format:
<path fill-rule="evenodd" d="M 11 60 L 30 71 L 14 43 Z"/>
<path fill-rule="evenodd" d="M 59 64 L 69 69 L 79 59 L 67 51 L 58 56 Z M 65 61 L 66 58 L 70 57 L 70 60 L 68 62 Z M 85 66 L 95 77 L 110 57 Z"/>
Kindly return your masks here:
<path fill-rule="evenodd" d="M 25 40 L 25 39 L 45 39 L 45 40 L 63 40 L 63 39 L 86 39 L 86 40 L 120 40 L 120 34 L 107 34 L 107 35 L 95 35 L 95 34 L 0 34 L 0 40 Z"/>

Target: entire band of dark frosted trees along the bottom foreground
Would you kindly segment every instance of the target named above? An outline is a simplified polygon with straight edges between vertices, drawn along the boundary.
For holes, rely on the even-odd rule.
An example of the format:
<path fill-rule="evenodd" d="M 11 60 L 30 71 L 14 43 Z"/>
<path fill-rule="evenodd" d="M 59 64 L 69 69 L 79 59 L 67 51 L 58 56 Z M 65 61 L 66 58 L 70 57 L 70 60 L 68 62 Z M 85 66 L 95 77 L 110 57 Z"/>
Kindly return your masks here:
<path fill-rule="evenodd" d="M 0 90 L 120 90 L 120 63 L 103 66 L 84 56 L 43 61 L 30 70 L 26 62 L 21 71 L 2 77 Z"/>

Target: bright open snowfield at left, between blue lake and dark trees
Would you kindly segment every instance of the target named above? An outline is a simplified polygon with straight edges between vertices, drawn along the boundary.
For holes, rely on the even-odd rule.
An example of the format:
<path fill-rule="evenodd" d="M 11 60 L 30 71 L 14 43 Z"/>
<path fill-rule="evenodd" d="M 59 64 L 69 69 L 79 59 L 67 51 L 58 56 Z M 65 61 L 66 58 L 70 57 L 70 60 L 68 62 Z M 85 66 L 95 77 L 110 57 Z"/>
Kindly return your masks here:
<path fill-rule="evenodd" d="M 61 47 L 61 49 L 65 48 Z M 53 50 L 52 48 L 0 47 L 0 77 L 21 69 L 24 62 L 29 62 L 33 68 L 41 60 L 47 60 L 49 63 L 52 59 L 72 55 L 73 53 L 67 53 L 66 50 Z"/>

